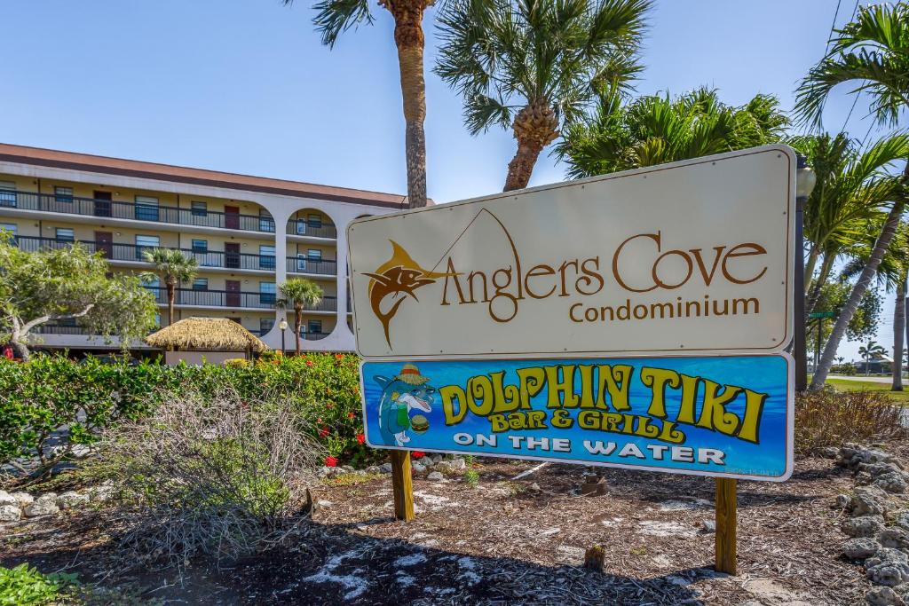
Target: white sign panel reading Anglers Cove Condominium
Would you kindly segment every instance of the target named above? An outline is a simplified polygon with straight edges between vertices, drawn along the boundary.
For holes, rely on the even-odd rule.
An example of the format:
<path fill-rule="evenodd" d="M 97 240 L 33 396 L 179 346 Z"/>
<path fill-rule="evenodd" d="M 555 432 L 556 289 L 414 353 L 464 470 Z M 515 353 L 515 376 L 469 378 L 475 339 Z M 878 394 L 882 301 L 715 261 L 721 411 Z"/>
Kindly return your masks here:
<path fill-rule="evenodd" d="M 357 351 L 779 352 L 794 184 L 772 145 L 355 221 Z"/>

